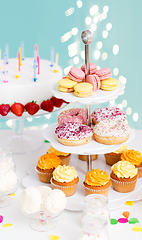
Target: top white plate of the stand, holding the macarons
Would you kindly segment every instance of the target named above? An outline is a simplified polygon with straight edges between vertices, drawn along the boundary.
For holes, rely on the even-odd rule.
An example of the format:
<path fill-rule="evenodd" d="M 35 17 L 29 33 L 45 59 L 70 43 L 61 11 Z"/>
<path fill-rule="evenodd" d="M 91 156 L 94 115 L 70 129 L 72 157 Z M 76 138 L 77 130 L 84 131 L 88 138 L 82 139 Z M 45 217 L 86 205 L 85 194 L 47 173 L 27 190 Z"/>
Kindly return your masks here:
<path fill-rule="evenodd" d="M 113 91 L 103 91 L 98 89 L 93 92 L 93 94 L 87 98 L 76 97 L 73 92 L 64 93 L 58 90 L 58 83 L 53 84 L 51 92 L 58 98 L 63 98 L 67 102 L 77 102 L 81 104 L 99 104 L 108 102 L 110 100 L 116 99 L 119 95 L 124 93 L 125 85 L 119 83 L 117 89 Z"/>

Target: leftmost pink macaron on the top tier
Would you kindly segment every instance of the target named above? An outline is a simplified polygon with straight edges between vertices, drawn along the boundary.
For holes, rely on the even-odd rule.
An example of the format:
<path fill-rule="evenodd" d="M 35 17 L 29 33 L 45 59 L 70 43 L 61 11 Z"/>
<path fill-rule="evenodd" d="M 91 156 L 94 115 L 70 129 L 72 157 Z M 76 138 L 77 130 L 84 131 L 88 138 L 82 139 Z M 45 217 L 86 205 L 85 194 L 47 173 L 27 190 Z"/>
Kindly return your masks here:
<path fill-rule="evenodd" d="M 79 68 L 72 67 L 68 73 L 68 76 L 73 81 L 82 82 L 83 78 L 85 78 L 85 73 Z"/>

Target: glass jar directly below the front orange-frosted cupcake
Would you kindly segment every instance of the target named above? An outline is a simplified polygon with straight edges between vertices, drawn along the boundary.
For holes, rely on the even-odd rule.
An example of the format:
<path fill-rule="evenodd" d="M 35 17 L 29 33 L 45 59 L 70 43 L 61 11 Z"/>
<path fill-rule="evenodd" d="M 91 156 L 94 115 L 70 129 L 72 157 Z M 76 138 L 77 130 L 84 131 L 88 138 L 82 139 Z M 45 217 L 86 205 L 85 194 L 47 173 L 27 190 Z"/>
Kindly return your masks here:
<path fill-rule="evenodd" d="M 110 214 L 108 211 L 108 198 L 101 194 L 90 194 L 84 199 L 85 207 L 83 210 L 83 216 L 86 214 L 102 215 L 107 218 L 110 223 Z"/>

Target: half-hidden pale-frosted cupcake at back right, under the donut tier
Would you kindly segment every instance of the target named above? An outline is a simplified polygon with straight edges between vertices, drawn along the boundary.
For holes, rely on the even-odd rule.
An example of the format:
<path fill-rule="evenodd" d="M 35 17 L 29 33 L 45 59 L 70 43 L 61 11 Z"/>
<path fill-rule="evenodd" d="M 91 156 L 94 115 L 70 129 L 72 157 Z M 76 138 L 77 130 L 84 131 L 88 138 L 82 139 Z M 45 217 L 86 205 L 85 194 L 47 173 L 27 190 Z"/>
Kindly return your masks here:
<path fill-rule="evenodd" d="M 116 150 L 115 152 L 104 154 L 106 163 L 110 166 L 117 163 L 118 161 L 121 160 L 121 155 L 125 151 L 127 151 L 127 145 L 122 144 L 122 146 L 118 150 Z"/>

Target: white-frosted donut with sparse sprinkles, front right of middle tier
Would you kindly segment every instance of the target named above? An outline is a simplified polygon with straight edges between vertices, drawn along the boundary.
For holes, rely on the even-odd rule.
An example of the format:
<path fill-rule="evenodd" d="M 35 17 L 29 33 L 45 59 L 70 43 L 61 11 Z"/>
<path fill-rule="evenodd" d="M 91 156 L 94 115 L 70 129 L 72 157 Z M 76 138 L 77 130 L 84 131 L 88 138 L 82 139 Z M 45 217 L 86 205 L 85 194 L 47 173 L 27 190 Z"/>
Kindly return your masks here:
<path fill-rule="evenodd" d="M 107 119 L 100 121 L 93 128 L 94 139 L 103 144 L 119 144 L 126 142 L 130 128 L 126 121 Z"/>

